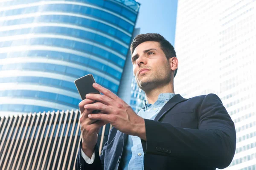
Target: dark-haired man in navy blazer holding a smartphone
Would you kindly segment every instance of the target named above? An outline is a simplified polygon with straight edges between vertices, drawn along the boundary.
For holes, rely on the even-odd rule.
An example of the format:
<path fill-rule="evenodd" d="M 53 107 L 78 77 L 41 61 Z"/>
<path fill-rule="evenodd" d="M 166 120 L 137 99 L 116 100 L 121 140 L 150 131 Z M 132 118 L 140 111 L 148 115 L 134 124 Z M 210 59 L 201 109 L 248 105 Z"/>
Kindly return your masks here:
<path fill-rule="evenodd" d="M 215 94 L 184 99 L 174 92 L 178 60 L 160 34 L 140 34 L 131 43 L 134 76 L 145 92 L 137 114 L 111 91 L 87 94 L 79 104 L 83 139 L 76 169 L 215 170 L 227 167 L 236 149 L 236 132 Z M 93 101 L 99 101 L 93 103 Z M 101 113 L 90 114 L 93 110 Z M 95 120 L 100 120 L 93 123 Z M 101 156 L 100 127 L 113 128 Z"/>

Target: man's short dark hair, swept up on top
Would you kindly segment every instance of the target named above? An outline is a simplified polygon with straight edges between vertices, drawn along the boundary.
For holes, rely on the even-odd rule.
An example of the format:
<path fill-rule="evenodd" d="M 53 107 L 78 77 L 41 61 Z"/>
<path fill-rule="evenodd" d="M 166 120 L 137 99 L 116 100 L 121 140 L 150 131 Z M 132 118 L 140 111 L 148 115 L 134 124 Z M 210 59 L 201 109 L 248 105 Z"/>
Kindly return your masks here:
<path fill-rule="evenodd" d="M 160 48 L 163 50 L 164 54 L 166 55 L 166 58 L 172 58 L 176 57 L 176 52 L 174 50 L 174 47 L 172 44 L 167 41 L 162 35 L 155 34 L 155 33 L 147 33 L 147 34 L 139 34 L 137 35 L 133 42 L 131 42 L 131 55 L 134 53 L 135 48 L 140 45 L 143 42 L 146 41 L 156 41 L 160 43 Z M 175 70 L 174 77 L 177 74 L 178 68 Z"/>

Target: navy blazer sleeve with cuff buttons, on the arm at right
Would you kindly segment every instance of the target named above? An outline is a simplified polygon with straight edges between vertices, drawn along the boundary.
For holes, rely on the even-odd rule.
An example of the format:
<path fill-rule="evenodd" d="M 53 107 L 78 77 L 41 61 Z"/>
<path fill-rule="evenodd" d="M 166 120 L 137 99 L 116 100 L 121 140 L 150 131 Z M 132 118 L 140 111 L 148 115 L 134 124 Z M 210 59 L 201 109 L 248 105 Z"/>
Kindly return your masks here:
<path fill-rule="evenodd" d="M 171 156 L 195 164 L 223 169 L 236 150 L 236 130 L 227 110 L 215 94 L 205 96 L 198 110 L 198 129 L 174 127 L 145 119 L 145 154 Z"/>

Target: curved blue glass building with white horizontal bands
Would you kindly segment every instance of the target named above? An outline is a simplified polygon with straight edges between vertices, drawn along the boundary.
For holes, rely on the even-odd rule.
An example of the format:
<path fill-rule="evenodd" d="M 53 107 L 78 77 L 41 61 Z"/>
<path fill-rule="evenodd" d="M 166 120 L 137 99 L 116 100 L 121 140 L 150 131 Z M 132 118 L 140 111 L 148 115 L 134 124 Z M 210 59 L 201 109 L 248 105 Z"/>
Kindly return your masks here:
<path fill-rule="evenodd" d="M 77 109 L 74 80 L 117 94 L 140 4 L 1 0 L 0 114 Z"/>

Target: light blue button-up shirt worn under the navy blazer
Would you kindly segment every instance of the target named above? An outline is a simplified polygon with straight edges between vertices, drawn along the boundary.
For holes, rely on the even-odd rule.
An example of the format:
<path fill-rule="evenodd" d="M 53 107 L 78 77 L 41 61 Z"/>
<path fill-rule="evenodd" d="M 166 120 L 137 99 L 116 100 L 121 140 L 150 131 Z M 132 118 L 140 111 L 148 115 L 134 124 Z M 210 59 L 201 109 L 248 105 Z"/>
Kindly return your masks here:
<path fill-rule="evenodd" d="M 148 104 L 148 101 L 144 100 L 143 105 L 145 108 L 141 109 L 138 115 L 144 119 L 154 120 L 157 113 L 173 96 L 175 96 L 173 93 L 159 94 L 154 105 Z M 144 152 L 138 136 L 128 135 L 122 158 L 122 167 L 123 170 L 144 170 Z"/>

